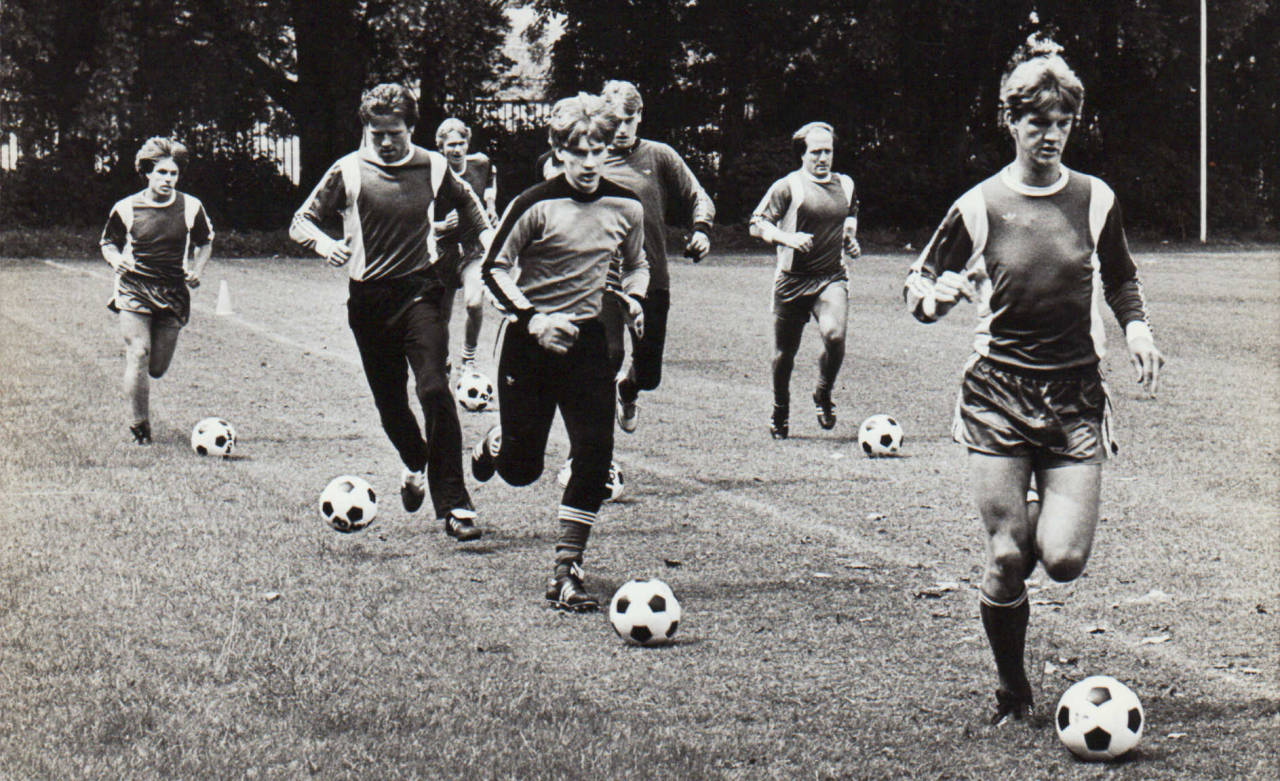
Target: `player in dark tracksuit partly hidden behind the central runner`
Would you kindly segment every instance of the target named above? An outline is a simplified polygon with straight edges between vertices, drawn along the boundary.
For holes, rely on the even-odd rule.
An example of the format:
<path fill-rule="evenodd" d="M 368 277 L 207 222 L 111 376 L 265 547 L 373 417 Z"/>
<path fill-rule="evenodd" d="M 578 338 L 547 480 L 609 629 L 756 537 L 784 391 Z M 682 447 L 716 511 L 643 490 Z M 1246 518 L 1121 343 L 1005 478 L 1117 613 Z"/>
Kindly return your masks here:
<path fill-rule="evenodd" d="M 696 262 L 710 251 L 708 232 L 716 219 L 716 206 L 676 150 L 640 138 L 644 100 L 635 85 L 605 82 L 602 96 L 618 115 L 618 131 L 609 145 L 603 174 L 640 196 L 644 205 L 644 252 L 649 260 L 649 289 L 641 298 L 644 335 L 632 338 L 631 367 L 618 382 L 618 426 L 631 433 L 639 423 L 636 399 L 640 392 L 654 390 L 662 382 L 662 355 L 671 309 L 667 215 L 678 215 L 692 228 L 685 254 Z M 622 329 L 616 332 L 621 338 Z"/>

